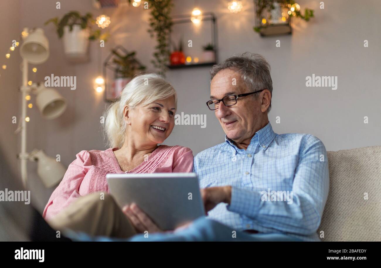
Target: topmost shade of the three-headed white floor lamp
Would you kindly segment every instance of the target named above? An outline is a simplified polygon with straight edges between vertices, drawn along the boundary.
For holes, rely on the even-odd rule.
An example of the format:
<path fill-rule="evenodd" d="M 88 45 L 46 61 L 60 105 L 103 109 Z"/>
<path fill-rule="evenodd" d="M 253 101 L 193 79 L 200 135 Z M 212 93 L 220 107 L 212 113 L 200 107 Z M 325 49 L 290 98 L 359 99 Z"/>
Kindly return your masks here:
<path fill-rule="evenodd" d="M 49 41 L 41 28 L 30 32 L 20 48 L 21 57 L 33 64 L 45 62 L 49 58 Z"/>

